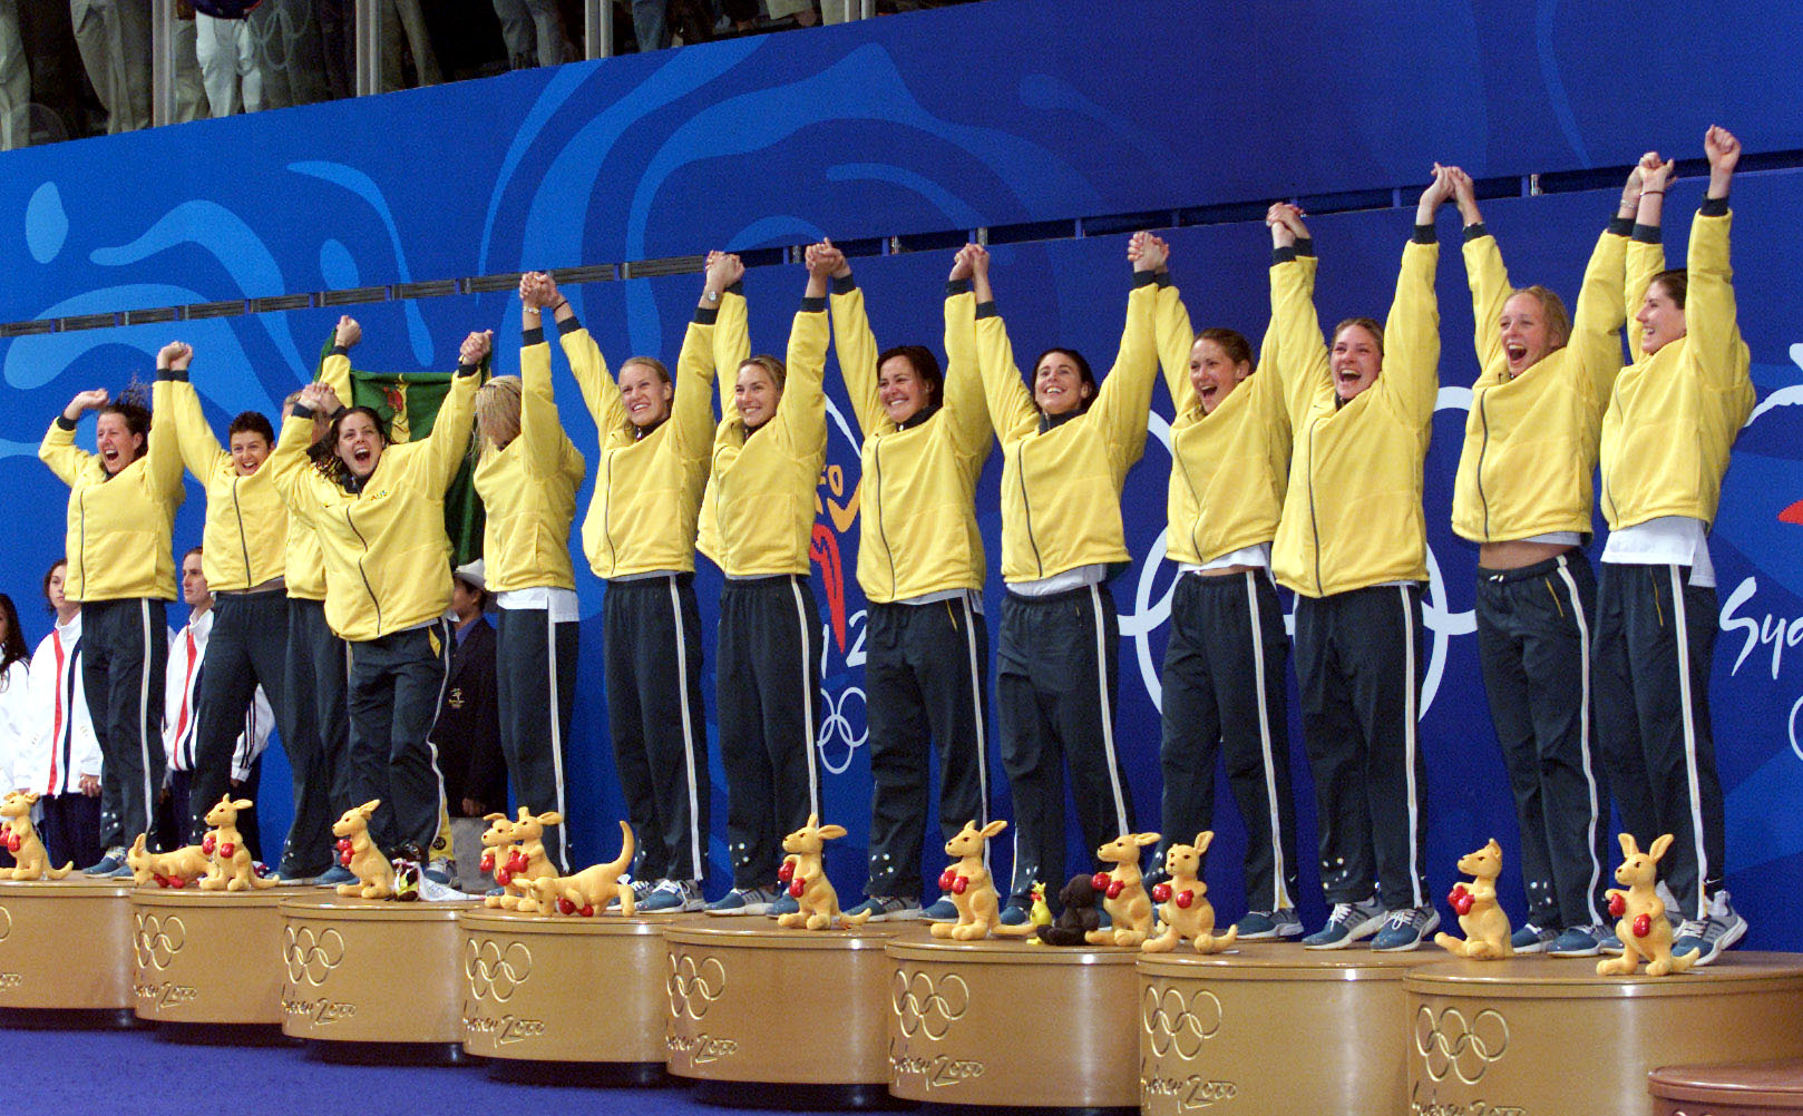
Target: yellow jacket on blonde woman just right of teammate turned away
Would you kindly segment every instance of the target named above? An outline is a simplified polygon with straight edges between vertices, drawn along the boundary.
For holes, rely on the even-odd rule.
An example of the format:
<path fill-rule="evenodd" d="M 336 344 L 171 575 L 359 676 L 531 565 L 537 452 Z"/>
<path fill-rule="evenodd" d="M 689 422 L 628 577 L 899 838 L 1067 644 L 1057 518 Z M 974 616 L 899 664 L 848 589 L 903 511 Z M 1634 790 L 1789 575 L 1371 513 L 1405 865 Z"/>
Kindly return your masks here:
<path fill-rule="evenodd" d="M 728 310 L 696 310 L 676 357 L 671 415 L 638 436 L 626 416 L 620 388 L 588 330 L 573 317 L 559 343 L 600 438 L 595 496 L 582 519 L 582 553 L 595 577 L 629 577 L 656 570 L 694 570 L 694 532 L 714 449 L 714 371 L 737 368 L 748 352 L 745 299 L 723 296 Z M 725 321 L 716 325 L 716 316 Z M 732 334 L 732 352 L 718 355 L 718 337 Z"/>

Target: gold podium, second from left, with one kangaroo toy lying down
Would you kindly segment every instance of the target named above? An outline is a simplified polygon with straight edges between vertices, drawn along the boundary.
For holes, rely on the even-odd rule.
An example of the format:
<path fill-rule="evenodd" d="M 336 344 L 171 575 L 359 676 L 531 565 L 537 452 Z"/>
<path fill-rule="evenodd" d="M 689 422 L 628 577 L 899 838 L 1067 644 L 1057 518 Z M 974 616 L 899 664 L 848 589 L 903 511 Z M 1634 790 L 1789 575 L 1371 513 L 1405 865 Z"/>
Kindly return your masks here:
<path fill-rule="evenodd" d="M 132 891 L 132 993 L 142 1020 L 281 1029 L 281 900 L 269 891 Z M 197 1033 L 198 1037 L 198 1033 Z"/>

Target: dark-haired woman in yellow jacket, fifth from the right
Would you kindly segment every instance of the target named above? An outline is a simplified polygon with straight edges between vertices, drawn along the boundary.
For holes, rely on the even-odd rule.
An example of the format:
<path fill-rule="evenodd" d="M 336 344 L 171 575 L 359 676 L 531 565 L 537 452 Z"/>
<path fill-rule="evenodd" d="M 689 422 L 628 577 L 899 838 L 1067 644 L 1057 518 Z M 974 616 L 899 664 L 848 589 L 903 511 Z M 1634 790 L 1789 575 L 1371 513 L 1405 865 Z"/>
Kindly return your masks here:
<path fill-rule="evenodd" d="M 1127 768 L 1114 741 L 1120 620 L 1107 579 L 1132 555 L 1121 485 L 1145 449 L 1158 348 L 1158 276 L 1134 261 L 1127 328 L 1102 386 L 1082 353 L 1053 348 L 1028 391 L 974 249 L 977 361 L 1002 444 L 1002 635 L 997 649 L 1002 768 L 1013 793 L 1015 862 L 1002 921 L 1026 921 L 1035 882 L 1064 880 L 1064 766 L 1084 846 L 1134 829 Z"/>

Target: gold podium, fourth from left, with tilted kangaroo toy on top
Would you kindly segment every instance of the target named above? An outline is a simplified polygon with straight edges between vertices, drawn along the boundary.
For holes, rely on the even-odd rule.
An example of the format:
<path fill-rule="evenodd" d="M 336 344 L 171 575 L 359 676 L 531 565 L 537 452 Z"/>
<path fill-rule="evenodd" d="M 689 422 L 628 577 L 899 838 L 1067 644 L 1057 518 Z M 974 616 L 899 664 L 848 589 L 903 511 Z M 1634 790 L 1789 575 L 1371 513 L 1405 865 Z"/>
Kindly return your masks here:
<path fill-rule="evenodd" d="M 664 930 L 678 918 L 692 916 L 462 910 L 463 1049 L 507 1062 L 496 1067 L 505 1078 L 665 1080 L 671 1002 Z"/>

